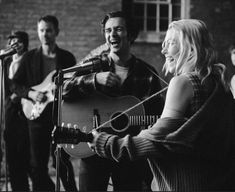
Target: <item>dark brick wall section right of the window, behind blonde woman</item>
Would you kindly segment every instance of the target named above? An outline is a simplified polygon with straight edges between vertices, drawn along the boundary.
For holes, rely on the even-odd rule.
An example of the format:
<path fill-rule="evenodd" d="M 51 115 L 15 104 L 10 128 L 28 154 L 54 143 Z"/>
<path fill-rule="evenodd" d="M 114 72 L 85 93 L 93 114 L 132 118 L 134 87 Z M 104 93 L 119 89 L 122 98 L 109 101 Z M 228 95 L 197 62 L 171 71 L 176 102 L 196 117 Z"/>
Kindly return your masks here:
<path fill-rule="evenodd" d="M 212 32 L 221 61 L 227 61 L 227 51 L 235 42 L 234 0 L 191 0 L 191 18 L 206 22 Z"/>

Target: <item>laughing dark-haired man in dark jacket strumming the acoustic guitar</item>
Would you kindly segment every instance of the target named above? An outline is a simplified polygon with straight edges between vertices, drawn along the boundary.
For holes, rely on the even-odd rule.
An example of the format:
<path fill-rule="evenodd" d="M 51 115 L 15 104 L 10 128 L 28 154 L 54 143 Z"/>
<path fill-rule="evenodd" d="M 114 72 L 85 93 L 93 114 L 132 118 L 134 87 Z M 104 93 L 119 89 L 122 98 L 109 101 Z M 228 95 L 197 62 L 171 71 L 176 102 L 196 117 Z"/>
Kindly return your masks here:
<path fill-rule="evenodd" d="M 79 102 L 80 98 L 89 97 L 98 91 L 108 96 L 131 95 L 143 100 L 161 89 L 155 69 L 131 54 L 131 45 L 138 35 L 133 24 L 128 16 L 119 11 L 104 17 L 102 29 L 109 50 L 97 57 L 108 57 L 109 70 L 84 76 L 75 74 L 64 84 L 65 98 L 74 98 Z M 147 114 L 160 115 L 163 99 L 158 95 L 144 103 L 144 106 Z M 83 112 L 82 109 L 77 110 Z M 124 136 L 139 133 L 140 127 L 132 128 L 119 134 Z M 116 163 L 97 155 L 81 159 L 79 190 L 106 191 L 110 177 L 114 190 L 151 189 L 152 174 L 146 160 Z"/>

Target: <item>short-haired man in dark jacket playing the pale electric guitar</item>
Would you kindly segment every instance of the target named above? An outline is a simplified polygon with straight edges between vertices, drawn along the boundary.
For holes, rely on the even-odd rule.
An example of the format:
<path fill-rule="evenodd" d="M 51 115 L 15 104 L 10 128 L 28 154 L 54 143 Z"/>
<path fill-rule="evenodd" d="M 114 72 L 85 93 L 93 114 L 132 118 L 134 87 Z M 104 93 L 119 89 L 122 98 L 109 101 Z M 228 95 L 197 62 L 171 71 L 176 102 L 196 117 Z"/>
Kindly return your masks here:
<path fill-rule="evenodd" d="M 13 78 L 14 85 L 12 87 L 18 96 L 27 99 L 32 104 L 48 101 L 45 88 L 42 90 L 38 88 L 43 88 L 43 79 L 48 74 L 49 79 L 52 80 L 51 71 L 76 64 L 73 54 L 59 48 L 56 44 L 56 38 L 59 34 L 59 23 L 56 17 L 51 15 L 41 17 L 37 23 L 37 32 L 41 46 L 24 55 Z M 38 116 L 32 116 L 28 120 L 28 125 L 33 191 L 53 191 L 55 189 L 54 183 L 48 175 L 51 131 L 53 129 L 51 104 L 47 105 Z M 54 152 L 55 146 L 52 148 Z M 60 173 L 62 173 L 61 179 L 64 188 L 67 191 L 76 191 L 73 167 L 69 156 L 64 151 L 62 151 L 62 159 L 64 163 L 61 164 Z"/>

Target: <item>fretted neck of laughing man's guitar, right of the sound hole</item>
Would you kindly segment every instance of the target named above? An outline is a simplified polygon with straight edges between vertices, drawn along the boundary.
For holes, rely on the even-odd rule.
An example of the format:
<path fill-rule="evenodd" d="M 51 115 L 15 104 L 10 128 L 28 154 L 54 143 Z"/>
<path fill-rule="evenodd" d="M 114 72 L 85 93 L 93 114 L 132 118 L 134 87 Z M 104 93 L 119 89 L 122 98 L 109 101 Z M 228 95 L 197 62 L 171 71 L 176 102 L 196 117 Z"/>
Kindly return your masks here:
<path fill-rule="evenodd" d="M 134 115 L 129 117 L 129 124 L 131 126 L 148 126 L 154 124 L 157 119 L 157 115 Z"/>

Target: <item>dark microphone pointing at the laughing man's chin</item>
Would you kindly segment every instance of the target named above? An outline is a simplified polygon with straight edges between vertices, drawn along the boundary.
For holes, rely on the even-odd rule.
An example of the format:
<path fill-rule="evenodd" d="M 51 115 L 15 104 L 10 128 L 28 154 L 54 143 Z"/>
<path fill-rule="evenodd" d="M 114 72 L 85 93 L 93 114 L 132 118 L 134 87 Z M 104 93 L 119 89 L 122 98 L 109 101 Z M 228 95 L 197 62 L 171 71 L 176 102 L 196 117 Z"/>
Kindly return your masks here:
<path fill-rule="evenodd" d="M 75 72 L 76 75 L 87 75 L 109 69 L 110 60 L 108 57 L 95 57 L 84 61 L 81 65 L 76 65 L 62 70 L 62 73 Z"/>

